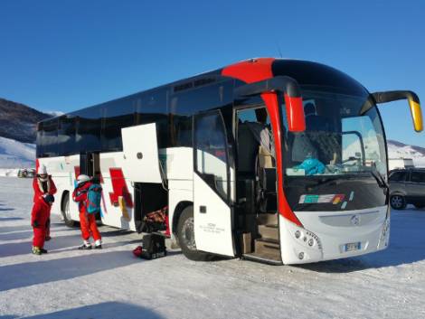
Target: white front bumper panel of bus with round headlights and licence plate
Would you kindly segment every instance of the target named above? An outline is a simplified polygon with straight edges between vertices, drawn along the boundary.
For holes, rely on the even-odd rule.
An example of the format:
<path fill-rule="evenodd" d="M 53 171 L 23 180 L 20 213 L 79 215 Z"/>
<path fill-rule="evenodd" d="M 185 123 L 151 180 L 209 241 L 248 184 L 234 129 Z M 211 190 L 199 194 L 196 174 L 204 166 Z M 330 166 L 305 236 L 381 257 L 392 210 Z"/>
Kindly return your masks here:
<path fill-rule="evenodd" d="M 387 206 L 360 211 L 295 211 L 304 228 L 279 216 L 284 264 L 348 258 L 386 249 L 390 239 Z"/>

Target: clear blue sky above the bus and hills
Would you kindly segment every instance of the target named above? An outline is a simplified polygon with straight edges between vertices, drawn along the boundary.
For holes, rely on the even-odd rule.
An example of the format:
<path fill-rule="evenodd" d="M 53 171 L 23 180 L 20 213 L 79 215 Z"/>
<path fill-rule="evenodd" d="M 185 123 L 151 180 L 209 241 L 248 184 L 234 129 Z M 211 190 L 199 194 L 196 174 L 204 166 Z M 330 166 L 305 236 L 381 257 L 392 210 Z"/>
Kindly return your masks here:
<path fill-rule="evenodd" d="M 271 56 L 425 101 L 424 14 L 420 0 L 2 0 L 0 97 L 69 112 Z M 387 138 L 425 146 L 406 101 L 379 108 Z"/>

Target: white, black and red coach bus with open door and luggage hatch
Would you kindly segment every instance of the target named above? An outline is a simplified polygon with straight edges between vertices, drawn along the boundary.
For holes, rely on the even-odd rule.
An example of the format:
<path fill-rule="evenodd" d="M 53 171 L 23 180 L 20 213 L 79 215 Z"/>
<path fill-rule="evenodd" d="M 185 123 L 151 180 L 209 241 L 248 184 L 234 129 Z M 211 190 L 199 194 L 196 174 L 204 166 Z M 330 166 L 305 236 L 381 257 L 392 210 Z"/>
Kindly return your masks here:
<path fill-rule="evenodd" d="M 103 185 L 101 221 L 163 231 L 187 258 L 272 264 L 347 258 L 389 242 L 388 161 L 378 103 L 310 61 L 241 61 L 38 124 L 52 211 L 79 220 L 78 174 Z"/>

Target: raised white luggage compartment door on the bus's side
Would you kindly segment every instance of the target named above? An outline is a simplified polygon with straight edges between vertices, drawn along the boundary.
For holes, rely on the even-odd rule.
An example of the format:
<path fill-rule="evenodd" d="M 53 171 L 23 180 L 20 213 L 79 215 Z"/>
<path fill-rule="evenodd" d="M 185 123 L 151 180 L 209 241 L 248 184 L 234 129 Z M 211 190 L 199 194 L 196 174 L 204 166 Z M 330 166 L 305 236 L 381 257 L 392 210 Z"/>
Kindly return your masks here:
<path fill-rule="evenodd" d="M 162 183 L 156 124 L 125 127 L 121 134 L 126 177 L 131 182 Z"/>

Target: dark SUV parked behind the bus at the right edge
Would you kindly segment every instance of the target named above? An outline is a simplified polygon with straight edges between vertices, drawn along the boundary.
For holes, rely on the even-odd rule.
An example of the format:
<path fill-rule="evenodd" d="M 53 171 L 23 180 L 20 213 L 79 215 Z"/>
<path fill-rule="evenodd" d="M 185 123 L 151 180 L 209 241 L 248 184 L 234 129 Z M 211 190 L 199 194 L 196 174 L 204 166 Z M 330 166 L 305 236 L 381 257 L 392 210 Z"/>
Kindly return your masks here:
<path fill-rule="evenodd" d="M 402 210 L 407 204 L 425 207 L 425 168 L 397 169 L 390 172 L 390 204 Z"/>

